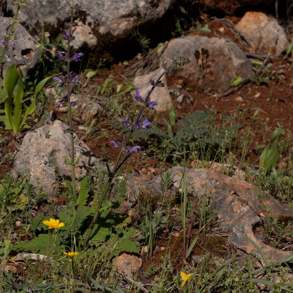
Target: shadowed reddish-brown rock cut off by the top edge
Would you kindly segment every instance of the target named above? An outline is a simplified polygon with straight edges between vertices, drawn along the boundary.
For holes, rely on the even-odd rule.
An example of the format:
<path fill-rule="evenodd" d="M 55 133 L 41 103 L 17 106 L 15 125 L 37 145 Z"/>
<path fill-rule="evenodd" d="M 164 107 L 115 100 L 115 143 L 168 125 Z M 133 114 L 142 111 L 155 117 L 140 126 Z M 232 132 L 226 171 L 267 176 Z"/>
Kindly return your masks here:
<path fill-rule="evenodd" d="M 225 14 L 234 14 L 237 11 L 257 5 L 268 5 L 273 0 L 199 0 L 201 5 L 205 5 L 206 9 L 221 11 Z"/>

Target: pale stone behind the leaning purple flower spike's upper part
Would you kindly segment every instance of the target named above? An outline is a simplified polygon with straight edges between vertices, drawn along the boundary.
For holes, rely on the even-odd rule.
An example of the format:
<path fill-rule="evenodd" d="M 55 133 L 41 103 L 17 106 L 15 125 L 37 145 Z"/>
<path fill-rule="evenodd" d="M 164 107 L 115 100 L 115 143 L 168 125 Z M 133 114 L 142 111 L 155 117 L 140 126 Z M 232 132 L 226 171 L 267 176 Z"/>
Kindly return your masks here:
<path fill-rule="evenodd" d="M 137 76 L 133 79 L 132 84 L 134 84 L 140 90 L 141 96 L 145 98 L 147 95 L 147 92 L 151 89 L 151 85 L 149 84 L 148 81 L 150 79 L 152 79 L 153 81 L 156 81 L 162 72 L 163 72 L 163 69 L 158 68 L 155 71 L 152 71 L 148 74 Z M 154 109 L 157 111 L 165 111 L 172 106 L 171 96 L 169 94 L 168 87 L 167 87 L 166 75 L 163 76 L 161 81 L 164 83 L 165 86 L 163 87 L 156 86 L 150 96 L 151 101 L 158 102 L 158 105 L 154 107 Z M 136 92 L 132 91 L 131 95 L 134 98 L 136 96 Z"/>

